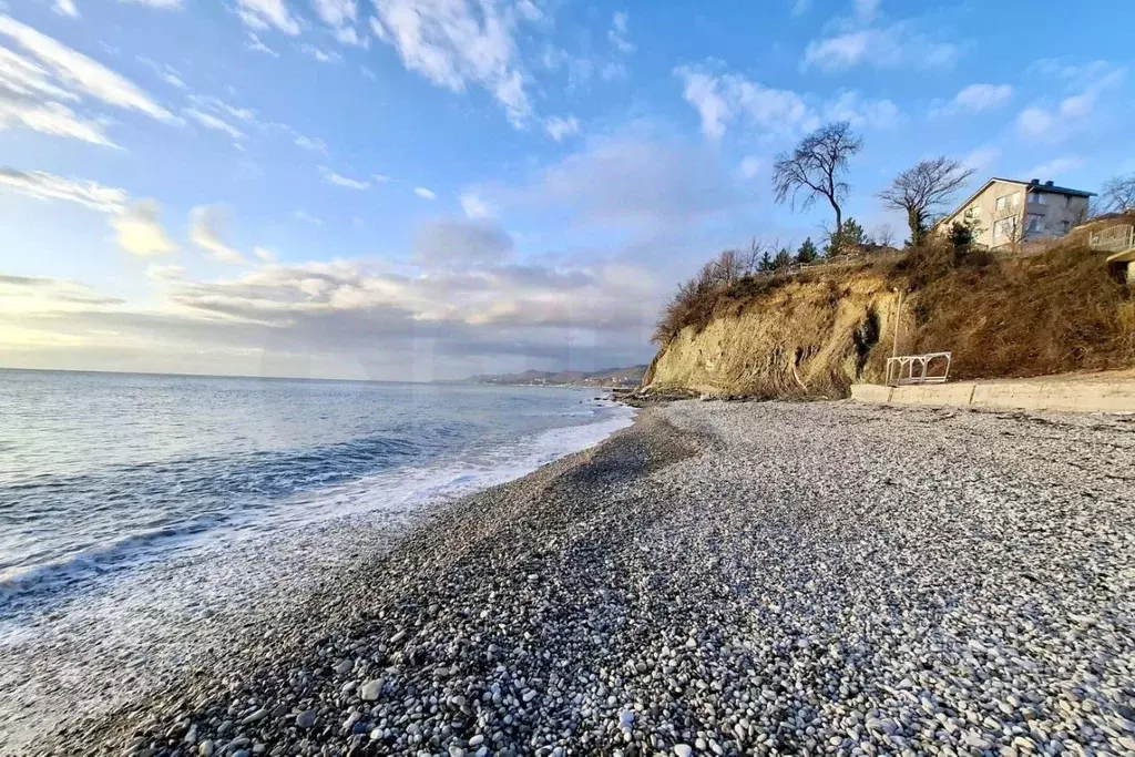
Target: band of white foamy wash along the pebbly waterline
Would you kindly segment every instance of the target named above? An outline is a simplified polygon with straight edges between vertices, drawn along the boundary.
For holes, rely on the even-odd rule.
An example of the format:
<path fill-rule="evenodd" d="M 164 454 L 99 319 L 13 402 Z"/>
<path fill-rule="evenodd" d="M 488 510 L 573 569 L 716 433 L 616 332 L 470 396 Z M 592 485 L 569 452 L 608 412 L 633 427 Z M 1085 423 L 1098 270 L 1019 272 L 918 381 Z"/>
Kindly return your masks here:
<path fill-rule="evenodd" d="M 336 565 L 394 546 L 438 503 L 524 476 L 633 420 L 629 407 L 586 406 L 595 422 L 302 491 L 224 528 L 166 535 L 161 550 L 108 546 L 125 549 L 128 570 L 64 592 L 50 615 L 30 608 L 0 621 L 0 752 L 75 712 L 143 696 L 259 607 L 299 606 Z M 58 579 L 98 563 L 50 570 Z"/>

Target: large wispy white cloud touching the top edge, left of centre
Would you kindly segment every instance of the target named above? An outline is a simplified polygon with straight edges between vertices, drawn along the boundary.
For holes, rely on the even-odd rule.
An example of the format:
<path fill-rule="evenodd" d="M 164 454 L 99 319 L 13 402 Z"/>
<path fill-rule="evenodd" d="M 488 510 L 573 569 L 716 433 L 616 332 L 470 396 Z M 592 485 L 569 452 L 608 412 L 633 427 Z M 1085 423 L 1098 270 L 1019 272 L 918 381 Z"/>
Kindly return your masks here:
<path fill-rule="evenodd" d="M 474 0 L 375 0 L 371 31 L 403 65 L 438 86 L 488 91 L 508 121 L 522 126 L 532 107 L 513 34 L 522 17 Z"/>

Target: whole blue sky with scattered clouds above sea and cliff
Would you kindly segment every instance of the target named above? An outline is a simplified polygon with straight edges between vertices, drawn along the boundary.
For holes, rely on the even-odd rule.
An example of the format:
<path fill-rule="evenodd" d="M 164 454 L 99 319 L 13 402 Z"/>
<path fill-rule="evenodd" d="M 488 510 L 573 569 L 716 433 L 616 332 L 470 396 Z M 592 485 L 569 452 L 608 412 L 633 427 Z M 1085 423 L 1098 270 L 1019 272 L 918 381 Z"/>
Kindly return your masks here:
<path fill-rule="evenodd" d="M 874 195 L 924 158 L 970 188 L 1135 171 L 1133 27 L 1103 1 L 0 0 L 0 367 L 647 362 L 720 250 L 822 236 L 770 170 L 827 121 L 864 140 L 846 212 L 896 241 Z"/>

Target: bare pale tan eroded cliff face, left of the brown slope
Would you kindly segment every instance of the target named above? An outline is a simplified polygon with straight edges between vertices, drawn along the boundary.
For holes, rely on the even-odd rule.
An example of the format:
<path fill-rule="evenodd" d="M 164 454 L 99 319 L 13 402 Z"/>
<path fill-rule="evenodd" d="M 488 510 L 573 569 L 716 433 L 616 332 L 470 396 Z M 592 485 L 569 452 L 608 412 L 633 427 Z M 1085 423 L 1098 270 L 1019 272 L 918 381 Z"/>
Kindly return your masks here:
<path fill-rule="evenodd" d="M 898 294 L 873 272 L 791 281 L 698 329 L 689 326 L 642 379 L 654 394 L 846 397 L 880 381 L 891 354 Z"/>

